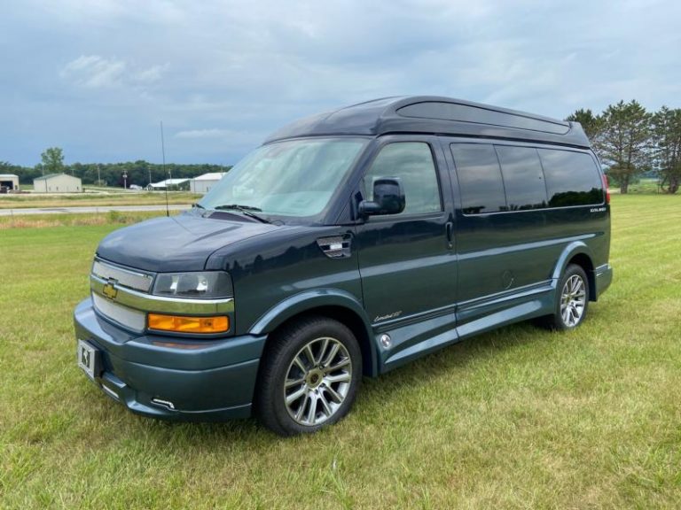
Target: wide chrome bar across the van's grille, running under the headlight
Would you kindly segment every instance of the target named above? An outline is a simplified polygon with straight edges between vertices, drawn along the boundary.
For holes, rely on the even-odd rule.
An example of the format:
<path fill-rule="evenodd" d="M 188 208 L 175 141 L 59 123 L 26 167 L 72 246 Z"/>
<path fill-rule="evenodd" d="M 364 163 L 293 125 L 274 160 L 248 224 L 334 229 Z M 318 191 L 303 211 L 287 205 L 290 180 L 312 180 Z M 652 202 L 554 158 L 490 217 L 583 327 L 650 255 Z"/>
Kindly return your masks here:
<path fill-rule="evenodd" d="M 226 299 L 182 299 L 167 298 L 163 296 L 152 296 L 143 294 L 136 290 L 121 287 L 114 283 L 113 287 L 117 291 L 115 298 L 107 298 L 104 293 L 105 285 L 110 282 L 90 274 L 90 289 L 105 299 L 110 299 L 119 305 L 129 306 L 143 312 L 156 313 L 189 313 L 196 315 L 224 314 L 234 312 L 234 298 Z"/>

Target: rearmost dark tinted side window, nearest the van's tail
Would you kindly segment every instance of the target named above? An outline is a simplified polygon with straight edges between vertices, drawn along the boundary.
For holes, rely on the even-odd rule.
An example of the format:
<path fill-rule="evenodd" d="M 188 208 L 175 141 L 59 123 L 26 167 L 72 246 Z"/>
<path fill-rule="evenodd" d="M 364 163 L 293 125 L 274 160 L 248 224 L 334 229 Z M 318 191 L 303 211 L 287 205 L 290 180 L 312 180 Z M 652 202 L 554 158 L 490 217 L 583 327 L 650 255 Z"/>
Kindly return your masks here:
<path fill-rule="evenodd" d="M 539 149 L 549 207 L 596 205 L 603 202 L 599 170 L 589 154 Z"/>

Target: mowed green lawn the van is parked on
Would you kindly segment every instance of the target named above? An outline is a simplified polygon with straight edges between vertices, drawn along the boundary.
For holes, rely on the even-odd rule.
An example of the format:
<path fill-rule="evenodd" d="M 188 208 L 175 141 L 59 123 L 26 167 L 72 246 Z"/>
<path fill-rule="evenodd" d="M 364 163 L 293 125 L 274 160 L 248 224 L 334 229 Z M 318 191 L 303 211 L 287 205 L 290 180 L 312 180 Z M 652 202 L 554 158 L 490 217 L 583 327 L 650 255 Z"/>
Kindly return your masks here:
<path fill-rule="evenodd" d="M 137 417 L 75 366 L 71 313 L 120 225 L 0 230 L 0 508 L 681 507 L 681 197 L 613 197 L 614 283 L 365 379 L 282 439 Z"/>

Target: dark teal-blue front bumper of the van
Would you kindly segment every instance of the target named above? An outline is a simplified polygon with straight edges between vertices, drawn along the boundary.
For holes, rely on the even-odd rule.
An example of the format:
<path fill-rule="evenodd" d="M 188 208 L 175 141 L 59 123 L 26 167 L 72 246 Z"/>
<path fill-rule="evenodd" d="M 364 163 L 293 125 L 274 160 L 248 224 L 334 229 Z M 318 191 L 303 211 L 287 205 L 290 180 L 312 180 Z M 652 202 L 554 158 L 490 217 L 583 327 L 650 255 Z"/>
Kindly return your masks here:
<path fill-rule="evenodd" d="M 75 308 L 74 327 L 76 342 L 97 350 L 94 383 L 133 413 L 181 421 L 251 414 L 266 336 L 140 336 L 100 317 L 90 298 Z"/>

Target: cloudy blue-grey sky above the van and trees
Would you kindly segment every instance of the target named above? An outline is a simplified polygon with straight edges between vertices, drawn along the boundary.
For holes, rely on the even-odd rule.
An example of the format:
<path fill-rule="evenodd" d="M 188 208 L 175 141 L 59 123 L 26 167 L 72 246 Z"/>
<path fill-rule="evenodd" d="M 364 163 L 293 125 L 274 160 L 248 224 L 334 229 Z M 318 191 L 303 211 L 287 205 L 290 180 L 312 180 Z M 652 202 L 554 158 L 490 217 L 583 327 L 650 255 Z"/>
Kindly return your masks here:
<path fill-rule="evenodd" d="M 434 94 L 563 118 L 681 107 L 674 0 L 23 0 L 0 15 L 0 161 L 233 164 L 288 121 Z"/>

